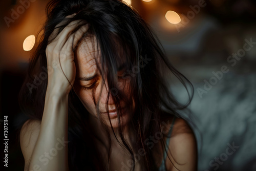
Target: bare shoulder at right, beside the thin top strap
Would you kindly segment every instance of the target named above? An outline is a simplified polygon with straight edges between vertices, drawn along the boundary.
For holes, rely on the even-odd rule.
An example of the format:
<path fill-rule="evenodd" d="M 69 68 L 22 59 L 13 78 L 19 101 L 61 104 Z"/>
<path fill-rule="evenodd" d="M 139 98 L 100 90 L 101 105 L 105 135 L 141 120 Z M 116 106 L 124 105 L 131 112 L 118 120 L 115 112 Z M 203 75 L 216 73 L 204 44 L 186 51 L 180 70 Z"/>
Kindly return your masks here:
<path fill-rule="evenodd" d="M 167 170 L 197 170 L 198 154 L 196 137 L 193 130 L 184 119 L 175 119 L 168 147 L 168 155 L 176 168 L 167 157 Z"/>

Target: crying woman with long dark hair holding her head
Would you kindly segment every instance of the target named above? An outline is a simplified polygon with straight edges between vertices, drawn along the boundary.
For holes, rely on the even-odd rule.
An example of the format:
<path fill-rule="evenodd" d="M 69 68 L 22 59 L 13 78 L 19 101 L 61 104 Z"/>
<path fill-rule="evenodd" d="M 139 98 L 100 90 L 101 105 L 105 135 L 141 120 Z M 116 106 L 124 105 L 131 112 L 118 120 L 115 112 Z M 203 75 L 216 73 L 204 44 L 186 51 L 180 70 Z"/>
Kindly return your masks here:
<path fill-rule="evenodd" d="M 196 170 L 197 143 L 164 56 L 120 1 L 51 1 L 20 106 L 25 170 Z M 190 84 L 191 85 L 191 84 Z"/>

